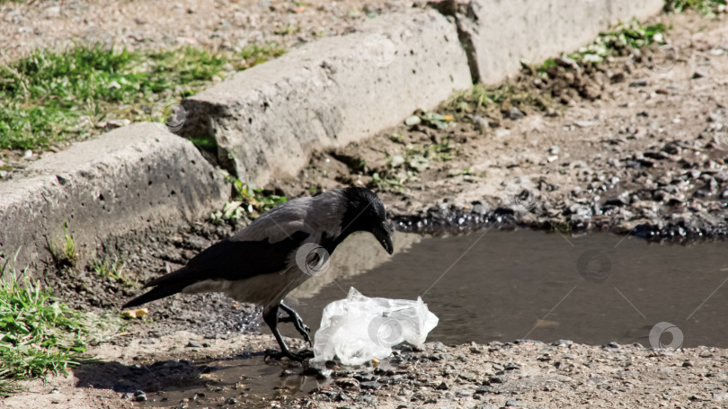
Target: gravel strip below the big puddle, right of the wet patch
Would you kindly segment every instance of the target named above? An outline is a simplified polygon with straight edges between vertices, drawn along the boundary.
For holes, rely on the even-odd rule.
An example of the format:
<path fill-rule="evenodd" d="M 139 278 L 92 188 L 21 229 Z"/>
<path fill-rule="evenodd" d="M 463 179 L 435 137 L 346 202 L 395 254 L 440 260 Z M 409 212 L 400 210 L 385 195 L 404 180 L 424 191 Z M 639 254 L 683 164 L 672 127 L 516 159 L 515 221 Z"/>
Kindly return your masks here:
<path fill-rule="evenodd" d="M 483 352 L 473 353 L 473 348 Z M 722 349 L 519 341 L 438 345 L 437 350 L 452 359 L 433 360 L 439 353 L 434 343 L 426 344 L 422 352 L 395 348 L 393 358 L 364 369 L 378 377 L 381 389 L 347 389 L 346 394 L 354 402 L 376 401 L 383 408 L 614 407 L 615 402 L 625 407 L 695 407 L 695 402 L 719 407 L 728 397 L 724 386 L 728 355 Z M 509 368 L 519 370 L 493 377 Z M 354 371 L 362 370 L 334 368 L 331 379 L 291 407 L 306 407 L 312 401 L 317 407 L 342 407 L 337 398 L 342 390 L 337 387 Z M 458 375 L 466 372 L 475 378 Z M 322 395 L 326 399 L 319 399 Z"/>

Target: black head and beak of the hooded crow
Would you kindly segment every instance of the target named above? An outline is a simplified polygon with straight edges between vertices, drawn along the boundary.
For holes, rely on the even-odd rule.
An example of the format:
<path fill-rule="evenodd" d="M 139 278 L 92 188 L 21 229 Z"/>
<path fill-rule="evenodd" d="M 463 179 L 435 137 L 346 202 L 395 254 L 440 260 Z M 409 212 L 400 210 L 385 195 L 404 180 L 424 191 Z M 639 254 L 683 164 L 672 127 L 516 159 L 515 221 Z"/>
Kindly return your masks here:
<path fill-rule="evenodd" d="M 391 254 L 394 247 L 382 200 L 365 188 L 349 187 L 342 191 L 346 200 L 342 228 L 347 233 L 365 231 L 373 234 L 386 252 Z"/>

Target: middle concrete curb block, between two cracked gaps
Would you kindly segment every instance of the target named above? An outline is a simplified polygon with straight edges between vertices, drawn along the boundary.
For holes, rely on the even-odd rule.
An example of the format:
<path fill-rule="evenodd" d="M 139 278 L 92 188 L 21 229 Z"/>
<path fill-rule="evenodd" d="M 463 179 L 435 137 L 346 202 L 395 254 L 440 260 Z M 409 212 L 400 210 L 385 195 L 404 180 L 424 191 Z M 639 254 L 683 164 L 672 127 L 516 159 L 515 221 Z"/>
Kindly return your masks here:
<path fill-rule="evenodd" d="M 182 132 L 211 135 L 218 161 L 265 184 L 297 173 L 314 149 L 391 127 L 471 86 L 465 51 L 434 10 L 387 14 L 243 71 L 182 102 Z"/>

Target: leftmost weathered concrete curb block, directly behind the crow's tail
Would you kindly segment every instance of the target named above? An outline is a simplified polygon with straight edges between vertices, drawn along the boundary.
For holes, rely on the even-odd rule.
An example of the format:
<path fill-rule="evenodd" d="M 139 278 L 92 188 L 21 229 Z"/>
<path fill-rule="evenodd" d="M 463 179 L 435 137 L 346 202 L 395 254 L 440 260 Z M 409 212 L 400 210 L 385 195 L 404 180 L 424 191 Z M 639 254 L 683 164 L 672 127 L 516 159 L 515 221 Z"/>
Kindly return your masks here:
<path fill-rule="evenodd" d="M 85 262 L 110 236 L 195 220 L 228 195 L 222 173 L 164 125 L 114 129 L 0 183 L 0 254 L 12 265 L 20 249 L 16 270 L 41 271 L 67 223 Z"/>

